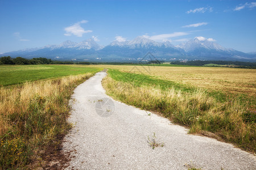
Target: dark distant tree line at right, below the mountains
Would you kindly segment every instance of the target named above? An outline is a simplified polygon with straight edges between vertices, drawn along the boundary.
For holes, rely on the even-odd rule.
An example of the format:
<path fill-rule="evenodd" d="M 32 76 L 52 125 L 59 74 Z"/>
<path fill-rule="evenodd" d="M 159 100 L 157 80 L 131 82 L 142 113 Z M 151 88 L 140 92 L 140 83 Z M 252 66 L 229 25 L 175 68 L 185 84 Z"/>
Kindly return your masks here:
<path fill-rule="evenodd" d="M 236 67 L 236 68 L 249 68 L 256 69 L 256 62 L 242 62 L 242 61 L 204 61 L 204 60 L 196 60 L 196 61 L 172 61 L 173 65 L 189 65 L 189 66 L 204 66 L 208 64 L 216 64 L 216 65 L 226 65 L 226 67 Z M 218 67 L 218 66 L 212 66 Z M 222 66 L 223 67 L 223 66 Z"/>

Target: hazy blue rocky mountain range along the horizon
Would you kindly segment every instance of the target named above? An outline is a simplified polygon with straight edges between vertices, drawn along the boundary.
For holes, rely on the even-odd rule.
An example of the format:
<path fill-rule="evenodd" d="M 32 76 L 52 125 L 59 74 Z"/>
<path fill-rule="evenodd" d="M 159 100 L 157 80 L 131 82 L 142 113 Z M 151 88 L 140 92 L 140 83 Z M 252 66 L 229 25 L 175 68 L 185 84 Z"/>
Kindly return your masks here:
<path fill-rule="evenodd" d="M 150 52 L 151 57 L 145 57 Z M 195 37 L 179 45 L 172 45 L 170 41 L 156 42 L 138 36 L 131 41 L 114 41 L 109 45 L 98 45 L 93 39 L 79 43 L 64 41 L 59 45 L 46 45 L 42 48 L 23 49 L 1 56 L 11 57 L 46 57 L 58 60 L 78 61 L 139 61 L 158 59 L 171 61 L 174 59 L 205 59 L 224 61 L 256 61 L 256 54 L 243 53 L 234 49 L 224 48 L 212 39 Z"/>

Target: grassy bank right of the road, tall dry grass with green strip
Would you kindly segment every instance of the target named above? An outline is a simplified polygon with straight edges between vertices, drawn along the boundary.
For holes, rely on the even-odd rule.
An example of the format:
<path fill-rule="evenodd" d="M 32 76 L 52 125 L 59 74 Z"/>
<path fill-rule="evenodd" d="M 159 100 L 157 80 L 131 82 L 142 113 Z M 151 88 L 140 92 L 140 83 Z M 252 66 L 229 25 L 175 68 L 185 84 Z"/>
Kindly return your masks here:
<path fill-rule="evenodd" d="M 255 101 L 112 69 L 102 84 L 115 99 L 160 112 L 188 126 L 190 133 L 209 131 L 244 150 L 256 151 L 255 108 L 251 105 Z"/>

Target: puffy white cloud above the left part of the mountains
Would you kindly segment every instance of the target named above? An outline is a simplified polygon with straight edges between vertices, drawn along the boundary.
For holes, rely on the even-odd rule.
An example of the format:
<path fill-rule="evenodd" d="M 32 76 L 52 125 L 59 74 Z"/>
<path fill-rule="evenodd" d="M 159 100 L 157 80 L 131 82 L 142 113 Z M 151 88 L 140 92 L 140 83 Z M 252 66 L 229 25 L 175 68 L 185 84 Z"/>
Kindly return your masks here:
<path fill-rule="evenodd" d="M 77 22 L 71 25 L 70 27 L 64 28 L 64 30 L 66 31 L 64 35 L 65 36 L 75 35 L 77 37 L 82 37 L 84 33 L 92 32 L 92 30 L 85 30 L 84 28 L 81 27 L 82 23 L 87 23 L 87 22 L 88 22 L 87 20 L 81 20 L 80 22 Z"/>

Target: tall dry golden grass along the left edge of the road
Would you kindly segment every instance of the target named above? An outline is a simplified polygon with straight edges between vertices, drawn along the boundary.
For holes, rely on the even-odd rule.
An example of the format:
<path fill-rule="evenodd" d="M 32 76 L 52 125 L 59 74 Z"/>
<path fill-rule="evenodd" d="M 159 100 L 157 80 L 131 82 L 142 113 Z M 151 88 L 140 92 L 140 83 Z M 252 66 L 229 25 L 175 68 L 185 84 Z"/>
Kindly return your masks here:
<path fill-rule="evenodd" d="M 40 155 L 70 127 L 66 118 L 73 89 L 92 75 L 0 87 L 0 169 L 43 164 Z"/>

